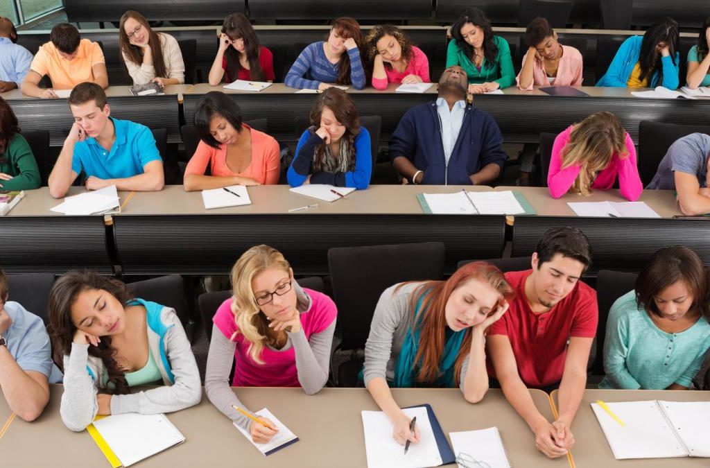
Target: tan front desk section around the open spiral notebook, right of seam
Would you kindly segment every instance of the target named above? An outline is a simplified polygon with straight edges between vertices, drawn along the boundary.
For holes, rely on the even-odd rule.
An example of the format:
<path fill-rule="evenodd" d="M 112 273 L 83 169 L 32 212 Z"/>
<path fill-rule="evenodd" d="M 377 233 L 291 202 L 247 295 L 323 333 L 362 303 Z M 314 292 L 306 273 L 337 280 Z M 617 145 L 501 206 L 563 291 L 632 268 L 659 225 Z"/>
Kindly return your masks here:
<path fill-rule="evenodd" d="M 557 394 L 552 392 L 552 401 L 557 405 Z M 623 467 L 623 468 L 667 468 L 708 467 L 706 458 L 657 458 L 626 459 L 614 458 L 599 421 L 591 409 L 591 403 L 601 401 L 710 401 L 710 391 L 673 391 L 673 390 L 600 390 L 584 391 L 577 417 L 572 423 L 575 444 L 572 458 L 577 468 Z"/>

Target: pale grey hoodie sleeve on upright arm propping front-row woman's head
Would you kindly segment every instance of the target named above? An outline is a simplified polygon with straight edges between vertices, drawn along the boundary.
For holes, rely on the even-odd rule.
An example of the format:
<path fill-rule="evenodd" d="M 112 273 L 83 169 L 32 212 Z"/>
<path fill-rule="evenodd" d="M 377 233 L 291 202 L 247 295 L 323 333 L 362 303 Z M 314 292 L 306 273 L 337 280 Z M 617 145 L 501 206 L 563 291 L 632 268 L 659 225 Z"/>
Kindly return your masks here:
<path fill-rule="evenodd" d="M 94 382 L 97 376 L 87 372 L 88 360 L 88 344 L 72 343 L 69 356 L 64 357 L 64 393 L 59 413 L 64 425 L 75 432 L 86 429 L 99 411 Z"/>

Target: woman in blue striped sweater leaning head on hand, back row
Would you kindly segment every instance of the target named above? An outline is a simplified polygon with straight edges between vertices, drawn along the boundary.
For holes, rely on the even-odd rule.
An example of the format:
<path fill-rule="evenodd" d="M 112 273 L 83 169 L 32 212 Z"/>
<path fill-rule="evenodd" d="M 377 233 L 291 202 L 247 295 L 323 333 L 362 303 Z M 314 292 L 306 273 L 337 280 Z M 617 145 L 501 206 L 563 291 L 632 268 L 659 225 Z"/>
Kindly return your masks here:
<path fill-rule="evenodd" d="M 286 86 L 292 88 L 327 89 L 335 85 L 366 85 L 360 49 L 362 31 L 353 18 L 333 21 L 328 40 L 320 40 L 305 48 L 286 74 Z"/>

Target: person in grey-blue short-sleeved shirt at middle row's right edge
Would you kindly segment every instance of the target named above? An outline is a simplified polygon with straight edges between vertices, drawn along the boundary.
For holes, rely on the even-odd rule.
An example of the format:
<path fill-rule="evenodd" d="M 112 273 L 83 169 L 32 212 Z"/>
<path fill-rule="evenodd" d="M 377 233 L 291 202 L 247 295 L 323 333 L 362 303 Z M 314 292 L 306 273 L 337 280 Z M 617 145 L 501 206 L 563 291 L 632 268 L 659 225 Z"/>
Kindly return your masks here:
<path fill-rule="evenodd" d="M 710 213 L 709 157 L 710 135 L 689 134 L 678 138 L 663 156 L 647 188 L 675 190 L 683 214 Z"/>

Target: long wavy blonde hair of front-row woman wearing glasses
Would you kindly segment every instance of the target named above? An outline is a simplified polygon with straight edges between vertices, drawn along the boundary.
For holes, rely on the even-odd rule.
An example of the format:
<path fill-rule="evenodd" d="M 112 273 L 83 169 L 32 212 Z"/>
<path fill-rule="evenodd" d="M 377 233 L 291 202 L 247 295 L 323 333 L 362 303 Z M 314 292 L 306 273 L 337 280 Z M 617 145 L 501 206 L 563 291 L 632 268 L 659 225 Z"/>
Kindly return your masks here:
<path fill-rule="evenodd" d="M 231 336 L 234 341 L 238 334 L 249 341 L 249 357 L 257 364 L 263 364 L 261 352 L 266 344 L 275 339 L 274 332 L 268 327 L 266 315 L 261 312 L 251 290 L 254 276 L 268 268 L 278 268 L 290 276 L 291 267 L 280 251 L 261 244 L 244 252 L 231 268 L 231 286 L 233 290 L 231 313 L 238 330 Z"/>

